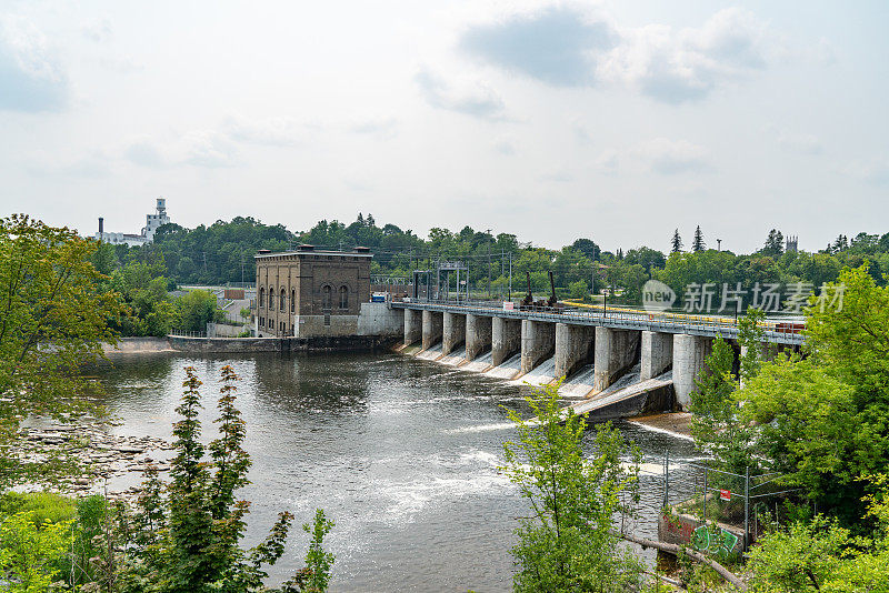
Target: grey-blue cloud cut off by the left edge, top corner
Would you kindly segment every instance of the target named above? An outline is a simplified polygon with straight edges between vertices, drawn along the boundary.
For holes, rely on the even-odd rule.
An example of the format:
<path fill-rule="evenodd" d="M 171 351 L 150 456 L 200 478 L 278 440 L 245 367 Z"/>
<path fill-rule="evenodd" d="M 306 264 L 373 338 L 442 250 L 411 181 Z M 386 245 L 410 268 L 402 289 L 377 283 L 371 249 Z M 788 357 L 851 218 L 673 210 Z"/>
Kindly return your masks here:
<path fill-rule="evenodd" d="M 59 111 L 68 76 L 47 38 L 24 19 L 0 17 L 0 110 Z"/>

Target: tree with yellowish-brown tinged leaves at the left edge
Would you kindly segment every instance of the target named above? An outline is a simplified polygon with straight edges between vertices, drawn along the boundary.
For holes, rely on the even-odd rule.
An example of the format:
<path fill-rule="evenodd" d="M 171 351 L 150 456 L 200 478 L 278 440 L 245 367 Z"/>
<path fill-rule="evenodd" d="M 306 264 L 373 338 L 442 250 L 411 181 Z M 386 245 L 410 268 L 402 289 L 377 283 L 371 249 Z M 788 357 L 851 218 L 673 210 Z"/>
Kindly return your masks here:
<path fill-rule="evenodd" d="M 116 341 L 108 322 L 122 304 L 102 289 L 107 277 L 90 261 L 96 248 L 70 229 L 0 219 L 0 490 L 57 478 L 73 461 L 63 452 L 21 458 L 22 420 L 101 412 L 86 398 L 96 386 L 79 369 L 102 355 L 102 342 Z"/>

